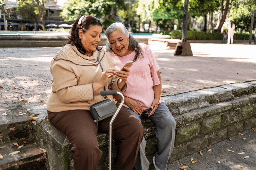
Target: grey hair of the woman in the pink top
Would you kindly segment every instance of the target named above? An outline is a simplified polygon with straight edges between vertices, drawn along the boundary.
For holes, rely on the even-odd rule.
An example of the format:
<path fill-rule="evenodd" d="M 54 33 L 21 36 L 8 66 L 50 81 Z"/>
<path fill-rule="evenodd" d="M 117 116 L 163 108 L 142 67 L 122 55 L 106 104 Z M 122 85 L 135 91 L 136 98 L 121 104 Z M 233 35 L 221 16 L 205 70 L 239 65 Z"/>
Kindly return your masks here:
<path fill-rule="evenodd" d="M 142 52 L 141 52 L 141 48 L 139 46 L 139 42 L 133 37 L 132 32 L 127 31 L 124 24 L 121 23 L 121 22 L 113 23 L 106 29 L 106 31 L 105 31 L 105 35 L 107 36 L 106 51 L 110 51 L 112 54 L 114 54 L 112 48 L 110 47 L 108 38 L 109 38 L 109 34 L 116 31 L 116 30 L 123 33 L 130 40 L 129 41 L 129 48 L 132 51 L 136 52 L 136 54 L 134 56 L 134 59 L 133 59 L 133 62 L 135 62 L 139 58 L 140 55 L 141 55 L 141 57 L 143 57 Z"/>

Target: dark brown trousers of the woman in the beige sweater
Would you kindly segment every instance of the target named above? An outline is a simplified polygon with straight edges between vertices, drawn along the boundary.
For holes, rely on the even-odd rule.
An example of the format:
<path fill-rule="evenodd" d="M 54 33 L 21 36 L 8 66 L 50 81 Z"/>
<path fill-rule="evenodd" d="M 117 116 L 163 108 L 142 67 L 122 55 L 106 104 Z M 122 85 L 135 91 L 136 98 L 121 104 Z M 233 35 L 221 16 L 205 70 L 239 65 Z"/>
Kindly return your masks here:
<path fill-rule="evenodd" d="M 102 155 L 97 131 L 99 128 L 108 132 L 111 117 L 100 121 L 98 127 L 88 110 L 48 111 L 50 123 L 63 132 L 73 145 L 71 151 L 74 153 L 75 170 L 96 170 Z M 112 163 L 113 170 L 133 169 L 143 136 L 140 121 L 122 107 L 112 123 L 112 137 L 121 141 Z"/>

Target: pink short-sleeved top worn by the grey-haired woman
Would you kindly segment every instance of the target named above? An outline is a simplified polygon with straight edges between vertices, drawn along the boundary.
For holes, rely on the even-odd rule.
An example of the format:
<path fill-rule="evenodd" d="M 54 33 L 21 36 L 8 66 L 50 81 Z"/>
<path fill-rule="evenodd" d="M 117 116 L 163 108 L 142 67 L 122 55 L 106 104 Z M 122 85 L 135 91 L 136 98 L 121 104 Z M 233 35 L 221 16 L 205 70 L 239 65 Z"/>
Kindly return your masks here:
<path fill-rule="evenodd" d="M 122 92 L 124 96 L 127 96 L 133 100 L 136 100 L 142 109 L 146 110 L 151 108 L 154 100 L 154 85 L 159 85 L 160 81 L 157 76 L 157 71 L 160 69 L 156 62 L 156 59 L 146 44 L 139 43 L 142 50 L 143 58 L 139 56 L 133 65 L 130 67 L 130 75 L 127 79 L 127 88 L 125 92 Z M 117 70 L 121 70 L 125 63 L 132 61 L 135 56 L 135 52 L 129 55 L 118 57 L 113 55 L 110 51 L 108 54 L 115 61 L 114 65 Z M 164 102 L 160 98 L 159 103 Z M 125 107 L 128 107 L 124 104 Z"/>

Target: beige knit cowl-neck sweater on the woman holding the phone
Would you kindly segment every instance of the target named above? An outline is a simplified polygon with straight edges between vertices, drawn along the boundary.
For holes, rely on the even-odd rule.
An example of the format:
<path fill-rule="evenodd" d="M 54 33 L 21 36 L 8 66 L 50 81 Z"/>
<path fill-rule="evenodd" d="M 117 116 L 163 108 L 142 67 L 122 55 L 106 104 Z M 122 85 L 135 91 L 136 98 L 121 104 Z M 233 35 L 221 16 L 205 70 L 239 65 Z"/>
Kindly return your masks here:
<path fill-rule="evenodd" d="M 60 48 L 51 62 L 52 92 L 48 100 L 47 110 L 61 112 L 67 110 L 90 110 L 90 104 L 102 100 L 100 88 L 93 92 L 92 83 L 100 80 L 102 70 L 97 61 L 99 57 L 103 70 L 115 68 L 113 59 L 104 49 L 96 50 L 92 56 L 81 54 L 75 46 L 69 44 Z M 121 90 L 117 86 L 118 79 L 109 78 L 106 90 Z M 126 84 L 122 92 L 126 90 Z M 115 100 L 113 96 L 108 99 Z M 85 102 L 87 100 L 90 104 Z"/>

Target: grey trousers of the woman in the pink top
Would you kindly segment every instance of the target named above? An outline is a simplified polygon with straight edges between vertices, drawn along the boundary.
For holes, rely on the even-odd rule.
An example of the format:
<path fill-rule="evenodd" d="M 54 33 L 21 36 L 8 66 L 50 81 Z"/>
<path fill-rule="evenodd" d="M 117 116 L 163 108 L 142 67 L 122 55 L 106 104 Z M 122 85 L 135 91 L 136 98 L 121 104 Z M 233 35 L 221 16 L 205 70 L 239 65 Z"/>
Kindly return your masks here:
<path fill-rule="evenodd" d="M 141 115 L 133 112 L 128 107 L 124 108 L 140 120 Z M 160 170 L 165 170 L 174 146 L 176 122 L 164 102 L 158 104 L 155 113 L 149 116 L 148 119 L 150 119 L 156 126 L 158 147 L 155 157 L 156 166 Z M 146 140 L 143 138 L 140 144 L 139 154 L 134 165 L 136 170 L 148 170 L 149 168 L 149 161 L 145 156 L 145 148 Z"/>

